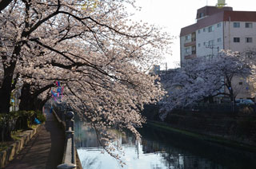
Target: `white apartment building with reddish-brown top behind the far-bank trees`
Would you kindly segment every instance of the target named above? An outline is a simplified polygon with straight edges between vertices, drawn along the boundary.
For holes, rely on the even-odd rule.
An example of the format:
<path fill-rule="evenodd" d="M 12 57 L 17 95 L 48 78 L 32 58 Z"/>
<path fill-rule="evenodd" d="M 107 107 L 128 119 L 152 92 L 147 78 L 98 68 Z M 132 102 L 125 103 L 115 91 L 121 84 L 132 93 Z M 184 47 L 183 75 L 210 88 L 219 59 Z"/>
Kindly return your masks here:
<path fill-rule="evenodd" d="M 221 49 L 240 53 L 250 53 L 256 49 L 256 11 L 234 11 L 229 6 L 204 6 L 198 9 L 196 23 L 181 29 L 181 67 L 194 57 L 210 60 Z M 242 84 L 239 78 L 235 81 Z M 248 97 L 252 97 L 252 94 L 244 90 L 237 98 Z"/>

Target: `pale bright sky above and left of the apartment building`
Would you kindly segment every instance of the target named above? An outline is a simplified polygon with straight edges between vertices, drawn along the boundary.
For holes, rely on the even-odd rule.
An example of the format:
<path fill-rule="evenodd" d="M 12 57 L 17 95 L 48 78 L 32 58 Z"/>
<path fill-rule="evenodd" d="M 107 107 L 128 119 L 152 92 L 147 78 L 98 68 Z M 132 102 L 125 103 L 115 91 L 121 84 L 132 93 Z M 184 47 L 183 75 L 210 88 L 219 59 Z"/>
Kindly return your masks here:
<path fill-rule="evenodd" d="M 165 31 L 176 37 L 171 46 L 172 55 L 166 55 L 168 68 L 174 68 L 179 63 L 179 33 L 184 26 L 196 22 L 197 10 L 203 6 L 215 6 L 218 0 L 136 0 L 136 5 L 142 10 L 136 12 L 134 18 L 165 27 Z M 255 0 L 226 0 L 227 6 L 233 10 L 256 11 Z M 162 65 L 162 69 L 164 66 Z"/>

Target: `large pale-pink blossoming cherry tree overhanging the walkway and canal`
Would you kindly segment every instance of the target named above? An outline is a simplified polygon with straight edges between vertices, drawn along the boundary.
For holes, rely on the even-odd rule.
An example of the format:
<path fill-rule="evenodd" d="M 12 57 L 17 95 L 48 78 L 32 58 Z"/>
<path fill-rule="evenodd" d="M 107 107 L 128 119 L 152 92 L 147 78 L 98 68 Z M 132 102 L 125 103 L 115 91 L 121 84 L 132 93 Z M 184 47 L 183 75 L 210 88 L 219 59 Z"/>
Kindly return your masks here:
<path fill-rule="evenodd" d="M 0 112 L 9 112 L 15 81 L 29 97 L 41 99 L 47 98 L 42 88 L 60 81 L 63 101 L 102 140 L 109 141 L 101 131 L 110 127 L 128 128 L 139 138 L 135 128 L 145 122 L 143 105 L 164 94 L 148 70 L 168 52 L 170 37 L 130 21 L 124 3 L 134 6 L 130 0 L 11 2 L 0 14 Z"/>

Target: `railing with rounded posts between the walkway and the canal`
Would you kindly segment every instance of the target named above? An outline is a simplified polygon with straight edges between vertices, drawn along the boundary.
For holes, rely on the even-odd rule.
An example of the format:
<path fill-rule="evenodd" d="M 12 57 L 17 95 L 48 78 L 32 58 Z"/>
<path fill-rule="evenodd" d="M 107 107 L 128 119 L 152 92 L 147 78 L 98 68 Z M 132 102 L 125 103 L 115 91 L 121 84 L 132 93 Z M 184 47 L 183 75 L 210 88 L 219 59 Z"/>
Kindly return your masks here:
<path fill-rule="evenodd" d="M 62 164 L 57 166 L 58 169 L 76 168 L 76 150 L 74 146 L 74 112 L 66 112 L 62 103 L 55 102 L 53 113 L 59 123 L 63 125 L 66 133 L 65 149 Z"/>

